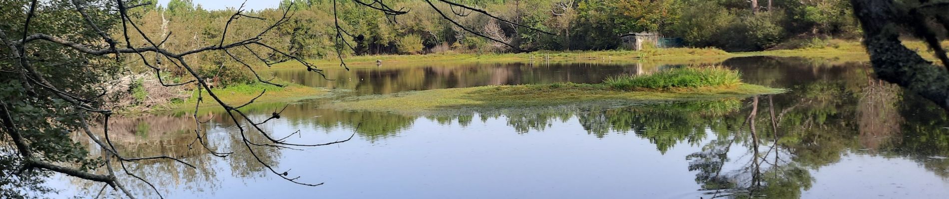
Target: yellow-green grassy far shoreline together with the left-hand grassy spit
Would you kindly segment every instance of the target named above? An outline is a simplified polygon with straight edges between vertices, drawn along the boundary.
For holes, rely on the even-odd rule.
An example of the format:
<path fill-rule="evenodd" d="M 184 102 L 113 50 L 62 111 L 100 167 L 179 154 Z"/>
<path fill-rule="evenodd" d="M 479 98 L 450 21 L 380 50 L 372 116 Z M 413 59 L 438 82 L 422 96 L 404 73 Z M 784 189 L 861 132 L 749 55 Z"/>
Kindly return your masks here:
<path fill-rule="evenodd" d="M 921 41 L 904 41 L 907 46 L 917 49 L 924 49 L 925 44 Z M 921 51 L 924 58 L 934 58 L 931 53 Z M 384 55 L 384 56 L 359 56 L 345 58 L 350 69 L 376 67 L 376 60 L 382 60 L 382 65 L 393 64 L 398 67 L 412 67 L 415 65 L 424 65 L 431 62 L 525 62 L 525 61 L 550 61 L 550 62 L 610 62 L 616 64 L 637 63 L 642 61 L 670 61 L 670 62 L 720 62 L 728 58 L 754 57 L 754 56 L 773 56 L 773 57 L 800 57 L 800 58 L 836 58 L 844 60 L 866 60 L 867 54 L 863 45 L 857 41 L 847 41 L 834 46 L 823 48 L 804 48 L 790 50 L 770 50 L 756 52 L 729 53 L 716 48 L 658 48 L 643 51 L 628 50 L 609 50 L 609 51 L 537 51 L 530 53 L 517 54 L 428 54 L 428 55 Z M 549 59 L 548 59 L 549 58 Z M 317 59 L 311 60 L 317 65 L 339 65 L 337 59 Z M 286 62 L 275 64 L 270 70 L 293 70 L 299 66 L 298 63 Z M 284 82 L 287 84 L 287 82 Z M 324 88 L 313 88 L 297 84 L 287 84 L 286 88 L 277 88 L 275 86 L 255 83 L 251 85 L 235 85 L 226 89 L 215 90 L 223 101 L 229 104 L 244 104 L 250 101 L 260 91 L 268 90 L 263 96 L 255 100 L 255 103 L 282 103 L 295 102 L 305 99 L 326 97 L 334 91 L 328 91 Z M 525 85 L 515 85 L 525 86 Z M 503 87 L 503 86 L 502 86 Z M 475 87 L 478 88 L 478 87 Z M 460 88 L 472 89 L 472 88 Z M 418 91 L 426 92 L 426 91 Z M 194 94 L 192 94 L 194 95 Z M 218 107 L 216 102 L 209 101 L 207 92 L 204 92 L 205 102 L 199 108 Z M 147 110 L 132 110 L 124 114 L 140 114 L 149 112 L 178 111 L 182 109 L 194 108 L 195 97 L 189 97 L 187 100 L 165 105 L 153 106 Z"/>

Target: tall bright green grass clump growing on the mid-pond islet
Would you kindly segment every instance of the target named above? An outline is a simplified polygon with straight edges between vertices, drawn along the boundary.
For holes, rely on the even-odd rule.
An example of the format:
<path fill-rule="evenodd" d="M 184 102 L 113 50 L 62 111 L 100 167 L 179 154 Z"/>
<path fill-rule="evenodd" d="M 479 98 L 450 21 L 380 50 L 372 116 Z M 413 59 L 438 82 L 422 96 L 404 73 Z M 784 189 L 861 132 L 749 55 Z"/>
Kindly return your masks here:
<path fill-rule="evenodd" d="M 676 68 L 651 75 L 607 77 L 605 86 L 614 90 L 640 91 L 676 88 L 724 87 L 741 84 L 741 74 L 722 66 Z"/>

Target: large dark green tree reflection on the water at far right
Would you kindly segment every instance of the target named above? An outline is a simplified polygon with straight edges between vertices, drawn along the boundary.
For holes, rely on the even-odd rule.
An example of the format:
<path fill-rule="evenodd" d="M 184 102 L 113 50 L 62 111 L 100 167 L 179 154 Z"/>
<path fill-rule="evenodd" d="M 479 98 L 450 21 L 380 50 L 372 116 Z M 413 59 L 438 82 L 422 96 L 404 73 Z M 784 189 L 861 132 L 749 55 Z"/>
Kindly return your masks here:
<path fill-rule="evenodd" d="M 782 71 L 798 70 L 794 69 L 795 66 L 786 67 L 791 69 Z M 949 146 L 949 136 L 946 136 L 949 131 L 941 128 L 949 126 L 944 111 L 922 104 L 927 101 L 913 99 L 914 95 L 900 94 L 898 88 L 866 75 L 862 67 L 865 66 L 859 63 L 796 67 L 809 71 L 780 73 L 783 76 L 773 76 L 773 79 L 762 78 L 772 85 L 786 84 L 791 92 L 774 96 L 774 107 L 769 103 L 767 115 L 760 112 L 748 120 L 748 124 L 769 125 L 749 128 L 751 126 L 745 124 L 742 126 L 746 130 L 731 129 L 725 134 L 714 131 L 716 140 L 709 141 L 701 152 L 689 156 L 693 160 L 690 170 L 698 172 L 697 182 L 703 189 L 718 193 L 716 196 L 798 198 L 801 191 L 806 191 L 813 183 L 809 170 L 838 162 L 848 153 L 914 159 L 934 174 L 946 176 L 947 161 L 932 158 L 949 155 L 949 147 L 946 147 Z M 775 74 L 768 70 L 772 69 L 747 68 L 742 71 Z M 750 113 L 754 108 L 751 109 L 741 112 L 753 115 Z M 773 138 L 762 136 L 769 133 Z M 738 144 L 743 142 L 743 138 L 751 141 Z M 753 146 L 765 148 L 769 145 L 754 142 L 769 140 L 771 149 L 754 150 Z M 754 161 L 736 162 L 739 160 L 730 158 L 744 156 L 730 155 L 729 152 L 734 152 L 738 146 L 754 154 L 751 157 L 764 156 L 763 159 L 771 160 L 757 164 Z M 781 153 L 768 154 L 770 150 Z M 778 157 L 787 160 L 772 159 Z M 723 171 L 728 167 L 726 163 L 740 164 L 737 168 L 743 169 Z M 729 171 L 731 174 L 725 174 Z M 743 178 L 742 174 L 748 177 Z M 723 176 L 726 178 L 722 179 Z"/>

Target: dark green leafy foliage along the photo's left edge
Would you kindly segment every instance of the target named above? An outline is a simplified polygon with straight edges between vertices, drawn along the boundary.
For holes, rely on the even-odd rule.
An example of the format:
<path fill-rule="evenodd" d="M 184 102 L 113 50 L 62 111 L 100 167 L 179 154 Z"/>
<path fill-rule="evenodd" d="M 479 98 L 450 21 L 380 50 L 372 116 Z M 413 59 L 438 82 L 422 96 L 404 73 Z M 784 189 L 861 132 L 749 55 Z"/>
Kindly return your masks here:
<path fill-rule="evenodd" d="M 0 1 L 0 30 L 5 46 L 10 40 L 19 40 L 26 35 L 28 8 L 31 1 Z M 88 0 L 86 8 L 91 21 L 103 31 L 113 31 L 119 22 L 115 1 Z M 137 4 L 132 1 L 129 4 Z M 102 38 L 87 28 L 83 17 L 73 9 L 71 1 L 39 1 L 38 11 L 31 18 L 28 33 L 45 33 L 66 41 L 78 43 L 101 43 Z M 9 38 L 7 38 L 9 37 Z M 95 42 L 99 41 L 99 42 Z M 91 98 L 101 93 L 99 86 L 114 80 L 118 74 L 121 58 L 89 57 L 71 48 L 49 42 L 30 42 L 21 46 L 28 52 L 30 66 L 44 74 L 49 84 L 80 98 Z M 81 171 L 90 171 L 101 165 L 99 158 L 89 158 L 85 147 L 70 138 L 70 132 L 84 128 L 84 119 L 92 120 L 84 111 L 75 108 L 56 96 L 56 92 L 42 89 L 35 84 L 36 76 L 28 80 L 21 76 L 22 65 L 10 58 L 9 48 L 0 48 L 0 106 L 9 110 L 15 124 L 13 129 L 28 144 L 34 159 L 57 165 L 68 165 Z M 92 67 L 95 66 L 95 67 Z M 24 82 L 28 81 L 28 82 Z M 92 108 L 102 105 L 89 104 Z M 23 166 L 23 157 L 12 147 L 9 128 L 0 128 L 0 198 L 34 198 L 53 191 L 44 182 L 53 173 L 30 169 L 16 174 Z"/>

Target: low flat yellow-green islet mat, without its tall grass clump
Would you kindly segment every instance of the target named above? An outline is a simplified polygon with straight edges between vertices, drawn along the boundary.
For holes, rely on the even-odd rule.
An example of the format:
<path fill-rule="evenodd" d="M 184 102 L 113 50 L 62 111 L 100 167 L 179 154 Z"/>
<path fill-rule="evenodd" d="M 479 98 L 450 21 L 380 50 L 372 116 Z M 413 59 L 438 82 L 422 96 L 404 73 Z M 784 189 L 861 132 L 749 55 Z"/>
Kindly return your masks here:
<path fill-rule="evenodd" d="M 787 90 L 752 84 L 740 84 L 734 87 L 617 91 L 598 84 L 554 83 L 353 96 L 329 103 L 326 108 L 419 114 L 464 109 L 530 108 L 582 103 L 648 104 L 716 100 L 785 91 Z"/>

